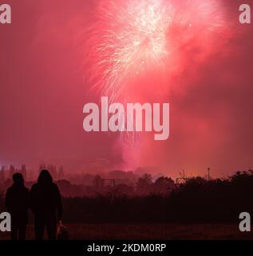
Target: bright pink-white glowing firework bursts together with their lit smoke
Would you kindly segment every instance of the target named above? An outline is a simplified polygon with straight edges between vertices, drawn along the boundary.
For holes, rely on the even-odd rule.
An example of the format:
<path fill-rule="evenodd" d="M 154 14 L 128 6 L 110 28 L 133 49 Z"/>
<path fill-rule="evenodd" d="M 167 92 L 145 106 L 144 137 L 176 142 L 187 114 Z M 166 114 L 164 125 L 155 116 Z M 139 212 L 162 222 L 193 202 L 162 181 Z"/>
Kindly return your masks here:
<path fill-rule="evenodd" d="M 130 97 L 128 87 L 146 86 L 141 78 L 150 78 L 154 70 L 161 70 L 169 81 L 171 74 L 188 68 L 188 58 L 197 65 L 219 48 L 224 24 L 223 6 L 217 0 L 99 2 L 85 57 L 93 91 L 124 103 Z M 156 79 L 157 74 L 151 80 Z M 172 85 L 153 86 L 145 90 L 165 94 Z"/>

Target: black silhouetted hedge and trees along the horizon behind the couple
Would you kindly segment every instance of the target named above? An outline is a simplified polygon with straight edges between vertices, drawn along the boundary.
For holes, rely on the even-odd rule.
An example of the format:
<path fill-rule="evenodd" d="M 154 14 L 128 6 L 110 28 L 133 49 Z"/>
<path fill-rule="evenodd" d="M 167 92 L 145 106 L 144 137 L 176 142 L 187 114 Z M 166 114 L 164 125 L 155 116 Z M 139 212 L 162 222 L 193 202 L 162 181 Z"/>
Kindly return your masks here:
<path fill-rule="evenodd" d="M 238 222 L 243 211 L 253 212 L 252 170 L 223 179 L 189 178 L 180 185 L 165 177 L 152 182 L 151 175 L 144 174 L 135 191 L 126 193 L 121 186 L 113 186 L 93 196 L 64 197 L 64 221 L 224 223 Z"/>

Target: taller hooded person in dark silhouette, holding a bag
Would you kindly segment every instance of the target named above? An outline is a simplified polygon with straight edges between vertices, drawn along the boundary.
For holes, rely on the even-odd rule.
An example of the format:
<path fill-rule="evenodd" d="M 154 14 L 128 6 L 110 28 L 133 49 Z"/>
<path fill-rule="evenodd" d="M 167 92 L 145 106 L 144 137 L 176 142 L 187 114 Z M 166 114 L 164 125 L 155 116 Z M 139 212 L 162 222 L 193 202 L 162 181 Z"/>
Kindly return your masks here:
<path fill-rule="evenodd" d="M 57 222 L 61 223 L 61 194 L 48 170 L 42 170 L 38 182 L 30 190 L 30 206 L 34 213 L 35 239 L 42 240 L 46 230 L 49 240 L 56 240 Z"/>

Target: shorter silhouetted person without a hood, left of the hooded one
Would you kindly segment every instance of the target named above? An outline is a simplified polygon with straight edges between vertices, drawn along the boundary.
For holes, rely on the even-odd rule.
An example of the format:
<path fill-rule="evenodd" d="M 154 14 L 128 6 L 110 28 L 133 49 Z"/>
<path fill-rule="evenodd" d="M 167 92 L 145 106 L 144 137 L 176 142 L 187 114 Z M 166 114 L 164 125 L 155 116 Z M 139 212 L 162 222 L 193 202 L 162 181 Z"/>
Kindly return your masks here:
<path fill-rule="evenodd" d="M 11 216 L 11 239 L 26 240 L 28 222 L 29 190 L 22 174 L 13 175 L 14 184 L 6 192 L 6 207 Z"/>

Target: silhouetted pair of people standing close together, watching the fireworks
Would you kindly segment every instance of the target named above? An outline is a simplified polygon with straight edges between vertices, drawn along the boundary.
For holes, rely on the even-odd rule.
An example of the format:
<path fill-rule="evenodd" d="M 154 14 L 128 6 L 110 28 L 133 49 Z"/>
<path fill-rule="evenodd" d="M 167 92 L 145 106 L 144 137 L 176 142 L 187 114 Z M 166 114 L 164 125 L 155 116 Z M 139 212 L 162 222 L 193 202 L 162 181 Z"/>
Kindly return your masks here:
<path fill-rule="evenodd" d="M 58 187 L 48 170 L 42 170 L 38 182 L 29 191 L 22 174 L 13 175 L 14 184 L 6 192 L 6 207 L 11 215 L 11 238 L 26 239 L 28 209 L 34 213 L 35 239 L 42 240 L 46 230 L 49 240 L 57 238 L 61 226 L 62 204 Z"/>

